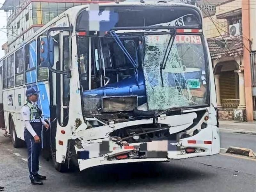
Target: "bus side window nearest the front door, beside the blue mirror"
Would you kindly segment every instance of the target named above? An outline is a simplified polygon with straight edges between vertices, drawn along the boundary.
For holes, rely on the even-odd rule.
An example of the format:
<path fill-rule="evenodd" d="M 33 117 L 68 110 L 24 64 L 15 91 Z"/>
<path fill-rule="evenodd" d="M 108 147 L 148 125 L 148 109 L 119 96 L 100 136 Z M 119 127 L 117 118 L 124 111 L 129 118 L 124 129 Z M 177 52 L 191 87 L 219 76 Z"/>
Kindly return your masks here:
<path fill-rule="evenodd" d="M 39 37 L 37 45 L 37 81 L 45 81 L 48 80 L 48 67 L 45 67 L 45 63 L 47 62 L 47 38 Z"/>

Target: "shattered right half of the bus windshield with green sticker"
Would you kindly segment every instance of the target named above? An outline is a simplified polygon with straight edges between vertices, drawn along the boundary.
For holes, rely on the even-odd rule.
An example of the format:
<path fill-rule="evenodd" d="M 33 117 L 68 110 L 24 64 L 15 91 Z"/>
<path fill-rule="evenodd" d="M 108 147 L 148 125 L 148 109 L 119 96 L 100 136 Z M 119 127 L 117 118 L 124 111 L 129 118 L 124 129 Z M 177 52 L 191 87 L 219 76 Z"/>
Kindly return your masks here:
<path fill-rule="evenodd" d="M 149 110 L 206 104 L 207 81 L 200 36 L 175 36 L 162 70 L 160 66 L 171 35 L 145 36 L 143 62 Z M 168 53 L 167 52 L 167 53 Z M 167 56 L 167 55 L 166 55 Z"/>

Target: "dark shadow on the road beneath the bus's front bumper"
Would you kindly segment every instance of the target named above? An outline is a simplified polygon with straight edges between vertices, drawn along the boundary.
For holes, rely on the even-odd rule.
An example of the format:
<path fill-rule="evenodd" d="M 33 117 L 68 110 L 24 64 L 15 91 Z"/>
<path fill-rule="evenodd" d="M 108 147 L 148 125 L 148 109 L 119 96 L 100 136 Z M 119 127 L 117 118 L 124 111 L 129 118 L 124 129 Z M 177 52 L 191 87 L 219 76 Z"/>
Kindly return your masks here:
<path fill-rule="evenodd" d="M 73 172 L 70 182 L 75 186 L 94 189 L 115 185 L 129 188 L 134 185 L 145 187 L 145 185 L 163 185 L 179 181 L 182 183 L 188 180 L 200 180 L 202 177 L 214 177 L 212 174 L 207 175 L 206 172 L 200 171 L 199 167 L 195 169 L 188 167 L 186 164 L 180 166 L 163 162 L 104 165 L 83 172 Z"/>

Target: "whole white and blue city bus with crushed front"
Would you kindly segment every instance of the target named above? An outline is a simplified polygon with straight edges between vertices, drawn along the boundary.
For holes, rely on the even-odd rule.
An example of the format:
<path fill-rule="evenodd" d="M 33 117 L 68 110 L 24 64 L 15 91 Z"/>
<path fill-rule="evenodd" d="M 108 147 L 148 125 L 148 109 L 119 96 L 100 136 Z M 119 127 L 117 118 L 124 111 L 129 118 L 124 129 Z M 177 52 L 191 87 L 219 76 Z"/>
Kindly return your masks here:
<path fill-rule="evenodd" d="M 0 63 L 13 146 L 24 140 L 20 108 L 32 86 L 50 124 L 42 148 L 60 172 L 220 152 L 212 63 L 196 6 L 72 7 Z"/>

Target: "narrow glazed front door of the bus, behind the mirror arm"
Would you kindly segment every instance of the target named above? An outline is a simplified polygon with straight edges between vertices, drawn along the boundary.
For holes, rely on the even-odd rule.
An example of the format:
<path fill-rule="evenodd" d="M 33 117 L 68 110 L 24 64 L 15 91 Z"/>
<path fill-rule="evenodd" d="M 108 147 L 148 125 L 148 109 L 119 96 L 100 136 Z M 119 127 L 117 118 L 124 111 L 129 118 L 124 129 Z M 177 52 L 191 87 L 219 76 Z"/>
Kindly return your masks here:
<path fill-rule="evenodd" d="M 69 71 L 70 36 L 68 31 L 60 31 L 53 36 L 52 69 L 62 72 Z M 68 124 L 69 77 L 65 74 L 50 71 L 50 113 L 54 122 L 60 126 Z M 55 125 L 56 126 L 56 125 Z"/>

